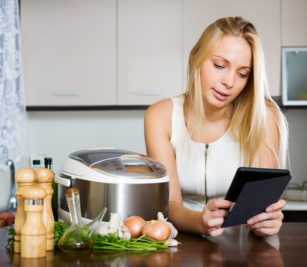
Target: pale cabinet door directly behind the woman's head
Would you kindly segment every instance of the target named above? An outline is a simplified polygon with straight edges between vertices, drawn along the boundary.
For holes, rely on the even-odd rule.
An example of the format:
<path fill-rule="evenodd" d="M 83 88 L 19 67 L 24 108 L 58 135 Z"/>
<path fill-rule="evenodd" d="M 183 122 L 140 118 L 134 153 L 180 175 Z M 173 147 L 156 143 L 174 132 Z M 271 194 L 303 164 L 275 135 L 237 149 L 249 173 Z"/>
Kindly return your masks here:
<path fill-rule="evenodd" d="M 183 0 L 183 65 L 205 28 L 230 16 L 244 17 L 256 26 L 266 56 L 271 95 L 280 96 L 280 0 Z"/>

